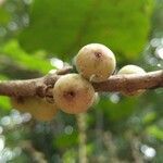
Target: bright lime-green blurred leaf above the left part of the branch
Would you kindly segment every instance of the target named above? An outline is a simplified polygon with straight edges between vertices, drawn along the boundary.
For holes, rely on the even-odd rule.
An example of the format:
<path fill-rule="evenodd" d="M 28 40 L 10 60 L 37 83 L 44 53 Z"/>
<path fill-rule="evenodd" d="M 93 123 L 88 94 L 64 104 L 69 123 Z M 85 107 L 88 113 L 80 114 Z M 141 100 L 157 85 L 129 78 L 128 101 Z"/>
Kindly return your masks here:
<path fill-rule="evenodd" d="M 16 40 L 10 40 L 4 46 L 0 47 L 0 52 L 13 60 L 13 63 L 24 68 L 39 71 L 42 74 L 54 68 L 45 58 L 46 53 L 43 51 L 37 51 L 34 54 L 28 54 L 20 47 Z"/>

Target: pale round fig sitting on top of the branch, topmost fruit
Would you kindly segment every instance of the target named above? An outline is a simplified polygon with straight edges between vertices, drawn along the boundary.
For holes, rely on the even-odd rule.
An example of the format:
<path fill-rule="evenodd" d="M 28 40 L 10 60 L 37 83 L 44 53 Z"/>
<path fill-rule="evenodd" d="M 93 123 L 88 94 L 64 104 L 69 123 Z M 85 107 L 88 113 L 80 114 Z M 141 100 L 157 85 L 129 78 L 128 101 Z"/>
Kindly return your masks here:
<path fill-rule="evenodd" d="M 103 45 L 90 43 L 75 57 L 76 68 L 85 78 L 99 83 L 106 80 L 115 70 L 113 52 Z"/>

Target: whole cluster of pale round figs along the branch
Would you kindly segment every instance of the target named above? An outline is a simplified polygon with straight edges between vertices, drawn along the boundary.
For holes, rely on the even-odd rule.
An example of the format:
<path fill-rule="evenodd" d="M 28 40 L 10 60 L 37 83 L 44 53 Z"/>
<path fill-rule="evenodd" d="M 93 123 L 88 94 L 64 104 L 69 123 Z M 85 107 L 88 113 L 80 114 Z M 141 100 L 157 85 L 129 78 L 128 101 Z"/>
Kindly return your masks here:
<path fill-rule="evenodd" d="M 49 103 L 41 98 L 29 98 L 22 103 L 15 99 L 12 104 L 15 109 L 30 112 L 40 121 L 51 120 L 58 108 L 65 113 L 78 114 L 87 111 L 98 99 L 91 82 L 101 83 L 114 73 L 116 60 L 114 53 L 105 46 L 90 43 L 83 47 L 75 57 L 75 65 L 78 74 L 61 76 L 54 84 L 52 95 L 54 103 Z M 117 74 L 145 74 L 137 65 L 126 65 Z M 145 90 L 122 92 L 126 96 L 140 95 Z"/>

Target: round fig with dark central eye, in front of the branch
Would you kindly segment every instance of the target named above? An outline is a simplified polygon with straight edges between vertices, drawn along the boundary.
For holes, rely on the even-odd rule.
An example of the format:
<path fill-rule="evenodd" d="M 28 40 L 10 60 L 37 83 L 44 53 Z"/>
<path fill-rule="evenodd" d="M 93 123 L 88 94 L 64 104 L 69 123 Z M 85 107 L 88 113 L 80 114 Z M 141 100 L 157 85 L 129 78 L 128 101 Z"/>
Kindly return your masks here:
<path fill-rule="evenodd" d="M 95 90 L 89 82 L 78 74 L 59 78 L 53 88 L 57 105 L 70 114 L 87 111 L 93 103 Z"/>

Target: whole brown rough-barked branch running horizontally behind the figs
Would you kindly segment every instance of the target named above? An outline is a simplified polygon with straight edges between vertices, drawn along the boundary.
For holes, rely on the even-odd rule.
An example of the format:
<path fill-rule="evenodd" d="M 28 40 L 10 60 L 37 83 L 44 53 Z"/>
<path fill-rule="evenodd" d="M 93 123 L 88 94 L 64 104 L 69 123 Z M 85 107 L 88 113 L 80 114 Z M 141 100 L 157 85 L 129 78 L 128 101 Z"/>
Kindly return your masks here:
<path fill-rule="evenodd" d="M 65 67 L 54 74 L 48 74 L 41 78 L 28 80 L 7 80 L 0 82 L 0 95 L 9 97 L 46 97 L 55 82 L 64 74 L 72 71 Z M 113 75 L 106 82 L 92 83 L 96 91 L 134 91 L 139 89 L 155 89 L 163 87 L 163 70 L 149 72 L 145 75 Z"/>

